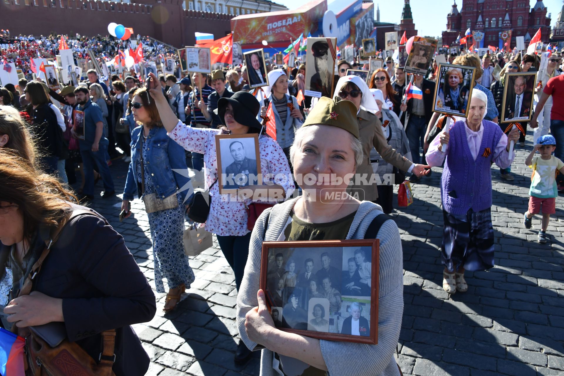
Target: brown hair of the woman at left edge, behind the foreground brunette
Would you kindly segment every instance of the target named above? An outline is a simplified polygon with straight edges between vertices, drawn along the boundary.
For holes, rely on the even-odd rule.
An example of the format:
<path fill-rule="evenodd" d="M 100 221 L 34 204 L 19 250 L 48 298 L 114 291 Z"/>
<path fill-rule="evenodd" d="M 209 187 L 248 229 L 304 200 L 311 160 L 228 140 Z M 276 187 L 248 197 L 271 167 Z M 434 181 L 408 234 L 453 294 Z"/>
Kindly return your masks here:
<path fill-rule="evenodd" d="M 8 135 L 4 148 L 14 150 L 20 157 L 35 165 L 37 153 L 32 135 L 20 113 L 14 107 L 0 106 L 0 135 Z"/>

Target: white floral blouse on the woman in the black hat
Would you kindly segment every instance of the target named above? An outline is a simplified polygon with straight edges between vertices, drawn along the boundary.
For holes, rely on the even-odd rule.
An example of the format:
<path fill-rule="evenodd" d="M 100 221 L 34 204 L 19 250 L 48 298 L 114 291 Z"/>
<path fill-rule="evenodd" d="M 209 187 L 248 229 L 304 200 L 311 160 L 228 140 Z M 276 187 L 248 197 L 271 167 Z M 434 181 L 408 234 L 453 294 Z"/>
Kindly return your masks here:
<path fill-rule="evenodd" d="M 169 137 L 190 152 L 204 154 L 205 189 L 210 189 L 211 207 L 206 230 L 220 236 L 243 236 L 249 232 L 247 228 L 247 214 L 245 203 L 235 200 L 235 194 L 219 194 L 217 179 L 217 154 L 215 152 L 215 135 L 222 134 L 219 129 L 193 128 L 178 121 L 174 129 L 168 133 Z M 258 139 L 261 155 L 261 173 L 263 183 L 278 184 L 284 188 L 285 197 L 292 195 L 296 187 L 290 176 L 290 166 L 284 152 L 278 143 L 261 135 Z"/>

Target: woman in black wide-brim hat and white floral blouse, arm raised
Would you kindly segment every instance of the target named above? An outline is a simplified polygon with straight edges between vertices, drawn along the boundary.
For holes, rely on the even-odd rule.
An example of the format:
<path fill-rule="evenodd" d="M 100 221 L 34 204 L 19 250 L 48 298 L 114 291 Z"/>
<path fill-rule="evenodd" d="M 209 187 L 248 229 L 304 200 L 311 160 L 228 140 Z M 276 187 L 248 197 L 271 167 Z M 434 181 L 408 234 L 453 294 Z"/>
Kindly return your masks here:
<path fill-rule="evenodd" d="M 247 193 L 253 192 L 254 197 L 258 195 L 268 197 L 268 202 L 272 204 L 284 200 L 294 192 L 288 160 L 276 141 L 267 136 L 265 131 L 261 133 L 262 125 L 257 121 L 261 105 L 252 94 L 238 91 L 231 98 L 219 99 L 217 114 L 223 124 L 221 129 L 193 128 L 178 120 L 162 94 L 157 77 L 152 73 L 149 77 L 152 79 L 149 92 L 155 100 L 162 124 L 169 132 L 169 137 L 187 151 L 204 154 L 205 189 L 209 189 L 211 196 L 206 230 L 217 235 L 223 255 L 235 274 L 235 283 L 239 291 L 249 253 L 251 234 L 247 228 L 248 215 L 245 206 L 251 204 L 253 198 L 241 199 L 240 194 L 219 194 L 217 178 L 220 172 L 217 169 L 215 136 L 261 134 L 258 139 L 261 171 L 258 172 L 262 173 L 262 183 L 268 185 L 246 185 L 244 188 Z M 240 342 L 235 360 L 245 361 L 249 355 L 250 352 L 245 344 Z"/>

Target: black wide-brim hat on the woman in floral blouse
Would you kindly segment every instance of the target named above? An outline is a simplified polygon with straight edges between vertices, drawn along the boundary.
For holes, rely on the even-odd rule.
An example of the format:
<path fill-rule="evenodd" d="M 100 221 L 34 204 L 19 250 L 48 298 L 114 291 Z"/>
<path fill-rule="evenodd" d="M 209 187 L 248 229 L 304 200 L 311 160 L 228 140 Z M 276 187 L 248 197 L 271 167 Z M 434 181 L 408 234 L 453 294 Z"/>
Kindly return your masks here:
<path fill-rule="evenodd" d="M 257 120 L 261 104 L 253 94 L 246 91 L 237 91 L 231 98 L 219 98 L 217 101 L 217 114 L 221 123 L 225 125 L 225 109 L 227 103 L 233 108 L 233 118 L 241 125 L 261 129 L 262 124 Z"/>

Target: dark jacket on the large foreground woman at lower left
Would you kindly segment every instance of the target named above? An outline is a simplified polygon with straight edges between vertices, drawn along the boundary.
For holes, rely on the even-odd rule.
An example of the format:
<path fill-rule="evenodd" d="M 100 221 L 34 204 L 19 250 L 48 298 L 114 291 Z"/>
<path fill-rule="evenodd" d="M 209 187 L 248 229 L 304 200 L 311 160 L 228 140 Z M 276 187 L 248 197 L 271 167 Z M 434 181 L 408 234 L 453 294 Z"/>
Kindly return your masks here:
<path fill-rule="evenodd" d="M 38 231 L 36 244 L 45 244 L 46 238 L 49 231 Z M 9 250 L 0 244 L 0 254 Z M 39 254 L 42 250 L 40 245 Z M 155 294 L 124 238 L 103 219 L 80 215 L 65 226 L 37 273 L 33 290 L 63 299 L 68 339 L 96 361 L 102 351 L 100 332 L 116 329 L 116 376 L 147 372 L 149 357 L 130 325 L 153 319 Z"/>

